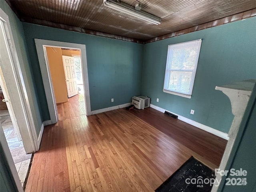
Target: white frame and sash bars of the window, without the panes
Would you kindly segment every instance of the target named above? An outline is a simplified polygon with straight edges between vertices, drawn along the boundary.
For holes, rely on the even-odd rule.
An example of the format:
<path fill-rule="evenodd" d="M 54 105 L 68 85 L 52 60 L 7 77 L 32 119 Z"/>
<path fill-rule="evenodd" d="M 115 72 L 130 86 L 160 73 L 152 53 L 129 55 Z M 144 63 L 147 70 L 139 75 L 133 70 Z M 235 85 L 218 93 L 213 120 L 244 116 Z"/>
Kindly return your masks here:
<path fill-rule="evenodd" d="M 178 69 L 171 70 L 171 69 L 168 69 L 168 68 L 171 68 L 171 62 L 172 61 L 169 61 L 169 59 L 172 59 L 172 58 L 170 58 L 169 56 L 170 56 L 170 54 L 172 54 L 170 52 L 170 50 L 172 50 L 172 47 L 177 46 L 178 44 L 189 44 L 189 43 L 198 42 L 198 41 L 200 42 L 200 46 L 198 46 L 198 51 L 197 51 L 197 57 L 196 57 L 196 62 L 195 62 L 194 70 L 178 70 Z M 196 78 L 196 70 L 197 70 L 197 66 L 198 66 L 198 60 L 199 60 L 199 56 L 200 56 L 201 46 L 202 46 L 202 39 L 197 39 L 197 40 L 192 40 L 192 41 L 187 41 L 187 42 L 181 42 L 181 43 L 177 43 L 177 44 L 170 44 L 170 45 L 168 45 L 168 52 L 167 52 L 167 58 L 166 58 L 166 69 L 165 69 L 165 74 L 164 74 L 164 88 L 163 88 L 163 92 L 168 93 L 168 94 L 174 94 L 174 95 L 182 96 L 182 97 L 189 98 L 189 99 L 192 97 L 192 92 L 193 92 L 194 82 L 195 82 L 195 78 Z M 192 72 L 191 82 L 190 82 L 190 89 L 191 89 L 190 94 L 186 94 L 184 92 L 179 92 L 179 91 L 174 91 L 174 90 L 166 89 L 167 83 L 168 83 L 168 79 L 169 79 L 168 77 L 170 75 L 169 74 L 170 71 Z"/>

